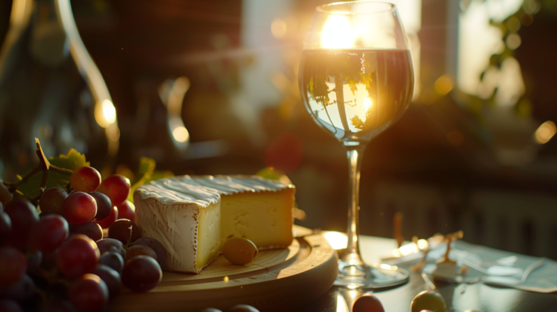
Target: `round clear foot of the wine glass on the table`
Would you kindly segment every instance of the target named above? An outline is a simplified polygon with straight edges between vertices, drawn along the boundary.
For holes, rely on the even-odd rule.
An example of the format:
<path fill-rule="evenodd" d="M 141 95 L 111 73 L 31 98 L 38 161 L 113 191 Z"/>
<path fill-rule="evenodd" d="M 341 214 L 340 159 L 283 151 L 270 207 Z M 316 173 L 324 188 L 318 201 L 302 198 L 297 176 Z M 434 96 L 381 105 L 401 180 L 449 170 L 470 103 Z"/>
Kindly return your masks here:
<path fill-rule="evenodd" d="M 402 286 L 407 283 L 409 276 L 407 270 L 393 265 L 350 265 L 339 260 L 334 285 L 350 289 L 381 290 Z"/>

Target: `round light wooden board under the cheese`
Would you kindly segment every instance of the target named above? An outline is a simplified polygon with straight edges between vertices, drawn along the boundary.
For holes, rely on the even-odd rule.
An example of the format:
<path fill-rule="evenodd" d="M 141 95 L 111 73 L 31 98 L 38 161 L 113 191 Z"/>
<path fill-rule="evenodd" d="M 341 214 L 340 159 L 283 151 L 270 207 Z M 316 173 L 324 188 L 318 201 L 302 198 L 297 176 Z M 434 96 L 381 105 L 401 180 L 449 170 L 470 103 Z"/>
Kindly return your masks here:
<path fill-rule="evenodd" d="M 141 294 L 124 291 L 110 300 L 109 311 L 196 312 L 250 304 L 265 312 L 303 306 L 333 285 L 337 255 L 322 235 L 299 226 L 294 231 L 298 237 L 288 249 L 260 251 L 245 266 L 220 255 L 201 274 L 164 272 L 155 289 Z"/>

